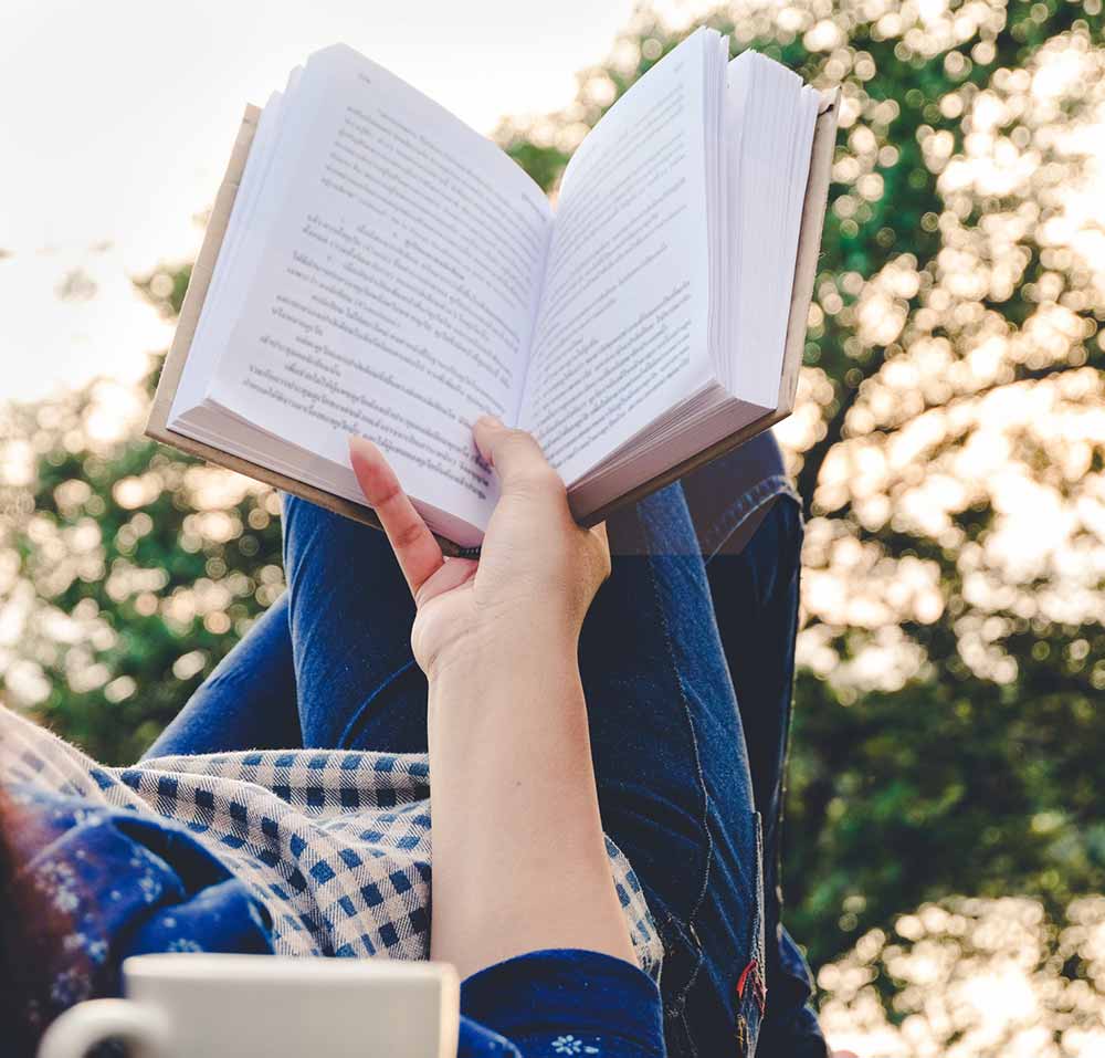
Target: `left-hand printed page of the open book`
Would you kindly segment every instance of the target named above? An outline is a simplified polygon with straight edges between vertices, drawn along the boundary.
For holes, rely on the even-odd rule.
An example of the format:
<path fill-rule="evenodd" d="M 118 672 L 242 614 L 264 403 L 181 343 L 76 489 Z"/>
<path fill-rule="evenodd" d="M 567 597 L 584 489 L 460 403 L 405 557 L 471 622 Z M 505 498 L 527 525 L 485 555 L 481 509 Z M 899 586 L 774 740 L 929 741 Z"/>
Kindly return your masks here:
<path fill-rule="evenodd" d="M 348 434 L 368 437 L 413 497 L 483 524 L 494 485 L 471 423 L 520 398 L 547 200 L 345 45 L 311 57 L 285 108 L 249 233 L 259 265 L 208 396 L 341 465 Z"/>

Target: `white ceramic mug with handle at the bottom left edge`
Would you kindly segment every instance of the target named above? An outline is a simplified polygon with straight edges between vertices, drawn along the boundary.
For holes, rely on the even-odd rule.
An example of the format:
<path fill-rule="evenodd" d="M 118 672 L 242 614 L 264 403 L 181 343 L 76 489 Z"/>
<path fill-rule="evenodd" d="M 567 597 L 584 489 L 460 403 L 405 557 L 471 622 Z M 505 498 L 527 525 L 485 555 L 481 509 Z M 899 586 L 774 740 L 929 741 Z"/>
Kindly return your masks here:
<path fill-rule="evenodd" d="M 39 1058 L 119 1038 L 141 1058 L 454 1058 L 460 983 L 445 963 L 139 955 L 125 999 L 78 1003 Z"/>

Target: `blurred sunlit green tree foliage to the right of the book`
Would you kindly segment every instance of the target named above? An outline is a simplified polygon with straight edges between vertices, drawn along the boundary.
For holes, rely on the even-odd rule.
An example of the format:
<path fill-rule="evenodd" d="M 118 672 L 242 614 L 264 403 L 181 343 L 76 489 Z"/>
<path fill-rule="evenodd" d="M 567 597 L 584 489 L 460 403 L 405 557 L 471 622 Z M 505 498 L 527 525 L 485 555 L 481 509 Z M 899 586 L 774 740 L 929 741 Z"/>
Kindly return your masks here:
<path fill-rule="evenodd" d="M 1105 877 L 1105 253 L 1080 197 L 1105 137 L 1101 7 L 738 3 L 708 21 L 843 90 L 781 431 L 810 518 L 796 929 L 829 957 L 954 892 L 1061 913 Z M 554 186 L 681 35 L 642 11 L 567 111 L 504 124 L 507 149 Z"/>

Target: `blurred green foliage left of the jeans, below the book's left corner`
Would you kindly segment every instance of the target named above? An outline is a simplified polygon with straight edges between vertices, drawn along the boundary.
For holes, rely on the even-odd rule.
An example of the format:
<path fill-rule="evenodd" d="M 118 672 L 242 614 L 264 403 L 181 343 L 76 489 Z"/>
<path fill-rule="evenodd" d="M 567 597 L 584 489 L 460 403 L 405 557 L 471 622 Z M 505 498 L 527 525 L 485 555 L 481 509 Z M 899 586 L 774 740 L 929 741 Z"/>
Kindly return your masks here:
<path fill-rule="evenodd" d="M 7 690 L 113 764 L 140 755 L 284 586 L 276 494 L 140 438 L 159 363 L 123 440 L 96 440 L 119 413 L 109 383 L 10 410 L 0 486 Z"/>

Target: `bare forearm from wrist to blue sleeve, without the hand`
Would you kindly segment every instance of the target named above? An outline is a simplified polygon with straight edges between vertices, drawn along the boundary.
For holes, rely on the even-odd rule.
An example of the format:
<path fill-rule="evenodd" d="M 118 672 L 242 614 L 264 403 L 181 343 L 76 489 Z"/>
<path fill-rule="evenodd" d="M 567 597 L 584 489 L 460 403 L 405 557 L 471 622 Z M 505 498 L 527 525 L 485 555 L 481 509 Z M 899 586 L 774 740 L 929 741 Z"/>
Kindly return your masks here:
<path fill-rule="evenodd" d="M 517 629 L 430 677 L 432 956 L 633 961 L 599 819 L 572 635 Z"/>

